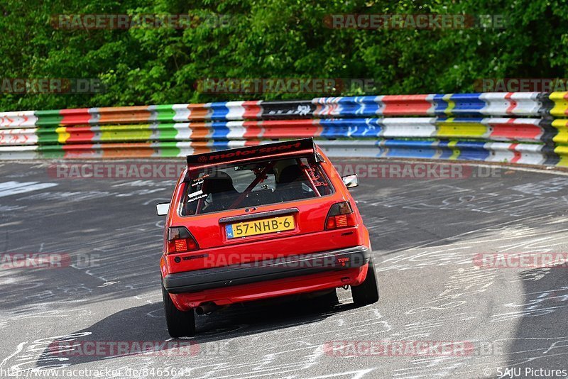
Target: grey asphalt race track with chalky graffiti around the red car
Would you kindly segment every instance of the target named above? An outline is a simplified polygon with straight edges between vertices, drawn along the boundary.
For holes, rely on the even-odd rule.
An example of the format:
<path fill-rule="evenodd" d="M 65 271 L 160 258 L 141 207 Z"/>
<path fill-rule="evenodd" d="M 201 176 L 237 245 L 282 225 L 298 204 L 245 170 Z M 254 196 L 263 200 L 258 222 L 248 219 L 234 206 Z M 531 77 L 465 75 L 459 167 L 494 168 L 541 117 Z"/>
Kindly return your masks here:
<path fill-rule="evenodd" d="M 58 179 L 47 167 L 0 163 L 1 252 L 70 258 L 64 268 L 0 270 L 0 376 L 60 367 L 119 378 L 535 378 L 568 368 L 568 270 L 474 263 L 479 253 L 568 252 L 565 175 L 502 168 L 485 178 L 363 179 L 354 196 L 371 231 L 378 303 L 354 307 L 339 289 L 339 303 L 198 316 L 190 356 L 177 347 L 65 355 L 53 344 L 170 341 L 154 204 L 168 201 L 174 181 Z M 337 356 L 329 341 L 466 341 L 474 350 Z"/>

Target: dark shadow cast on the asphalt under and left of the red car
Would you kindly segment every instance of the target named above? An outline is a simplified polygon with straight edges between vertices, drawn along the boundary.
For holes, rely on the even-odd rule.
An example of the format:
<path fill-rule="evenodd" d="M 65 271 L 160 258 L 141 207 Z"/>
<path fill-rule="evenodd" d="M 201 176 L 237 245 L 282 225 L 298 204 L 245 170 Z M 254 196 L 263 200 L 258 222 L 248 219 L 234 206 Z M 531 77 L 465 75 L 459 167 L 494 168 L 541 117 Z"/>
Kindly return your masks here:
<path fill-rule="evenodd" d="M 37 367 L 52 366 L 55 359 L 58 359 L 60 363 L 73 366 L 106 361 L 109 358 L 141 356 L 141 354 L 119 354 L 116 350 L 112 354 L 109 353 L 108 346 L 119 342 L 129 344 L 129 349 L 133 348 L 135 342 L 139 342 L 140 346 L 143 342 L 151 342 L 157 347 L 150 348 L 143 353 L 148 356 L 187 355 L 187 352 L 191 351 L 191 356 L 199 358 L 199 344 L 320 322 L 333 314 L 354 308 L 352 303 L 340 304 L 336 292 L 320 297 L 293 296 L 250 302 L 246 305 L 235 304 L 209 315 L 197 316 L 196 336 L 190 339 L 175 339 L 174 343 L 169 346 L 168 344 L 159 346 L 161 342 L 170 339 L 165 327 L 163 304 L 161 302 L 146 304 L 141 307 L 124 309 L 86 329 L 73 333 L 89 333 L 87 336 L 71 341 L 68 339 L 53 341 L 41 355 Z M 92 347 L 95 344 L 104 346 L 104 351 L 95 353 Z"/>

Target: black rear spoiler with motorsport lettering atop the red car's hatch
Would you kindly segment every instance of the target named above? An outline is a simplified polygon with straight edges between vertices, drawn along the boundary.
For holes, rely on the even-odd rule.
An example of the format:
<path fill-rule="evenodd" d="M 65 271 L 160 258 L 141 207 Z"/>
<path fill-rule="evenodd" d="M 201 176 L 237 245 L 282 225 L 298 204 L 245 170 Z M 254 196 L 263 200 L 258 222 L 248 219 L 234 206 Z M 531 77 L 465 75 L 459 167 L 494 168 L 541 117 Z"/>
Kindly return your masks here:
<path fill-rule="evenodd" d="M 302 138 L 299 140 L 263 143 L 261 145 L 245 146 L 243 148 L 187 155 L 187 170 L 241 160 L 260 160 L 271 157 L 280 158 L 287 155 L 297 155 L 298 153 L 314 155 L 316 162 L 323 161 L 322 156 L 317 153 L 314 139 Z"/>

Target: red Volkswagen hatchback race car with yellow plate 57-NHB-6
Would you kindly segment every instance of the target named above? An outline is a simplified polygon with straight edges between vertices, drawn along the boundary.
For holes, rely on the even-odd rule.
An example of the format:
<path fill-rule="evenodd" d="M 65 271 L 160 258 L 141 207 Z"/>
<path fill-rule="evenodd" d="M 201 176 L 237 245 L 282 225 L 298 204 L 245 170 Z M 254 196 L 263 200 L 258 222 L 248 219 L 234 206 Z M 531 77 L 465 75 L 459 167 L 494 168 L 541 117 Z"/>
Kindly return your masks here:
<path fill-rule="evenodd" d="M 312 138 L 190 155 L 167 214 L 162 292 L 168 331 L 195 313 L 351 286 L 378 300 L 368 231 L 348 187 Z"/>

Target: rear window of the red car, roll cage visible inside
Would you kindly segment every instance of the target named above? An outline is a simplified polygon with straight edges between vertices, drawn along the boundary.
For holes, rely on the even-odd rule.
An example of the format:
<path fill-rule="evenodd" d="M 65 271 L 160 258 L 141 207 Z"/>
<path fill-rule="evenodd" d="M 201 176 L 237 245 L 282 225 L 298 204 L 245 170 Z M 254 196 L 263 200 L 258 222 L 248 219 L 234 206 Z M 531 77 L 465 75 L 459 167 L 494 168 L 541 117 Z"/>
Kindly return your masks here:
<path fill-rule="evenodd" d="M 180 213 L 192 216 L 258 207 L 326 196 L 333 191 L 313 158 L 222 165 L 191 172 L 185 182 Z"/>

